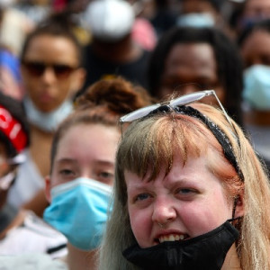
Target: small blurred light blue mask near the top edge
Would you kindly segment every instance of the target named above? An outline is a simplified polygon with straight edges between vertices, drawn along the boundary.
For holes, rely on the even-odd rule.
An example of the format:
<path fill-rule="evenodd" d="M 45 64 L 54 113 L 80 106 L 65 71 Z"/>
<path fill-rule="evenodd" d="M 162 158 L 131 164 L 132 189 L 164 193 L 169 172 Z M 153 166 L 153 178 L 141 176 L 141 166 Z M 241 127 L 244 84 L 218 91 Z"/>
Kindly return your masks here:
<path fill-rule="evenodd" d="M 215 24 L 215 20 L 211 14 L 182 14 L 177 20 L 178 26 L 189 27 L 212 27 Z"/>

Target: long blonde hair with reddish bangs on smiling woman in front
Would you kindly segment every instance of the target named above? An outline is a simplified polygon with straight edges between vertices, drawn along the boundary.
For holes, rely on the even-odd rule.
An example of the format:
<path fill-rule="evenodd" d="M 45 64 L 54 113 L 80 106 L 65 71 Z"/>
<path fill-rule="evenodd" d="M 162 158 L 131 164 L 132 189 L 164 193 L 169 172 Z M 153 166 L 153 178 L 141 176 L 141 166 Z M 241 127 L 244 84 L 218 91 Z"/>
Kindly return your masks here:
<path fill-rule="evenodd" d="M 240 220 L 237 243 L 241 267 L 270 269 L 270 186 L 266 169 L 234 121 L 231 120 L 232 128 L 218 109 L 202 103 L 192 106 L 226 134 L 242 176 L 224 156 L 211 130 L 197 118 L 170 112 L 134 121 L 125 131 L 117 152 L 113 210 L 100 250 L 99 269 L 138 269 L 121 255 L 125 248 L 136 243 L 130 229 L 124 171 L 143 177 L 150 170 L 149 180 L 154 181 L 161 167 L 165 166 L 166 174 L 169 173 L 175 153 L 184 162 L 188 158 L 206 157 L 211 172 L 218 175 L 229 196 L 244 194 L 245 215 Z"/>

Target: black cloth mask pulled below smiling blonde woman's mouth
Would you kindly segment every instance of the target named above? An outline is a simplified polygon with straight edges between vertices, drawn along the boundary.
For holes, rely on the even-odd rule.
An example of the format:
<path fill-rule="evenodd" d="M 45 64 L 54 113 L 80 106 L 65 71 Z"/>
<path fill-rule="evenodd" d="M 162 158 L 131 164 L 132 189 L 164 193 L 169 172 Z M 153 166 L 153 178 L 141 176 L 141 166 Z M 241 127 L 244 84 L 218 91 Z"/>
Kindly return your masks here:
<path fill-rule="evenodd" d="M 184 241 L 164 242 L 141 248 L 138 244 L 123 251 L 135 266 L 155 270 L 220 270 L 229 247 L 238 238 L 238 230 L 229 220 L 220 227 Z"/>

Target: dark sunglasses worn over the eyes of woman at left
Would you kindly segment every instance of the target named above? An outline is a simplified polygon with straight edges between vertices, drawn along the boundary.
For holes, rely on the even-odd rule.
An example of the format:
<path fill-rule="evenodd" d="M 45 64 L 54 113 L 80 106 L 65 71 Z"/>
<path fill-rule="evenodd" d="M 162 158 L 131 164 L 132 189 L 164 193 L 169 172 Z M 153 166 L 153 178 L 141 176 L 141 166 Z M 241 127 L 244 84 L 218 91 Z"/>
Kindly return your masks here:
<path fill-rule="evenodd" d="M 58 63 L 44 63 L 40 61 L 22 61 L 23 67 L 31 74 L 31 76 L 42 76 L 45 70 L 50 67 L 52 68 L 55 76 L 58 78 L 66 78 L 69 76 L 72 71 L 76 69 L 76 67 L 71 67 L 66 64 L 58 64 Z"/>

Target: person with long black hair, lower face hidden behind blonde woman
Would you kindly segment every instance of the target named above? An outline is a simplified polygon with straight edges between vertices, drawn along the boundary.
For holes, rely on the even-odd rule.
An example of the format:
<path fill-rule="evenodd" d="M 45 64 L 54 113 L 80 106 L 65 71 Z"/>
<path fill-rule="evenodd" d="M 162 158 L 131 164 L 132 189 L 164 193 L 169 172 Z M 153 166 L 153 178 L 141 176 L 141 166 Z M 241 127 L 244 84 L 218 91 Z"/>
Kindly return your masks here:
<path fill-rule="evenodd" d="M 158 41 L 148 66 L 150 94 L 214 89 L 232 118 L 242 124 L 242 65 L 237 46 L 214 28 L 175 27 Z"/>

